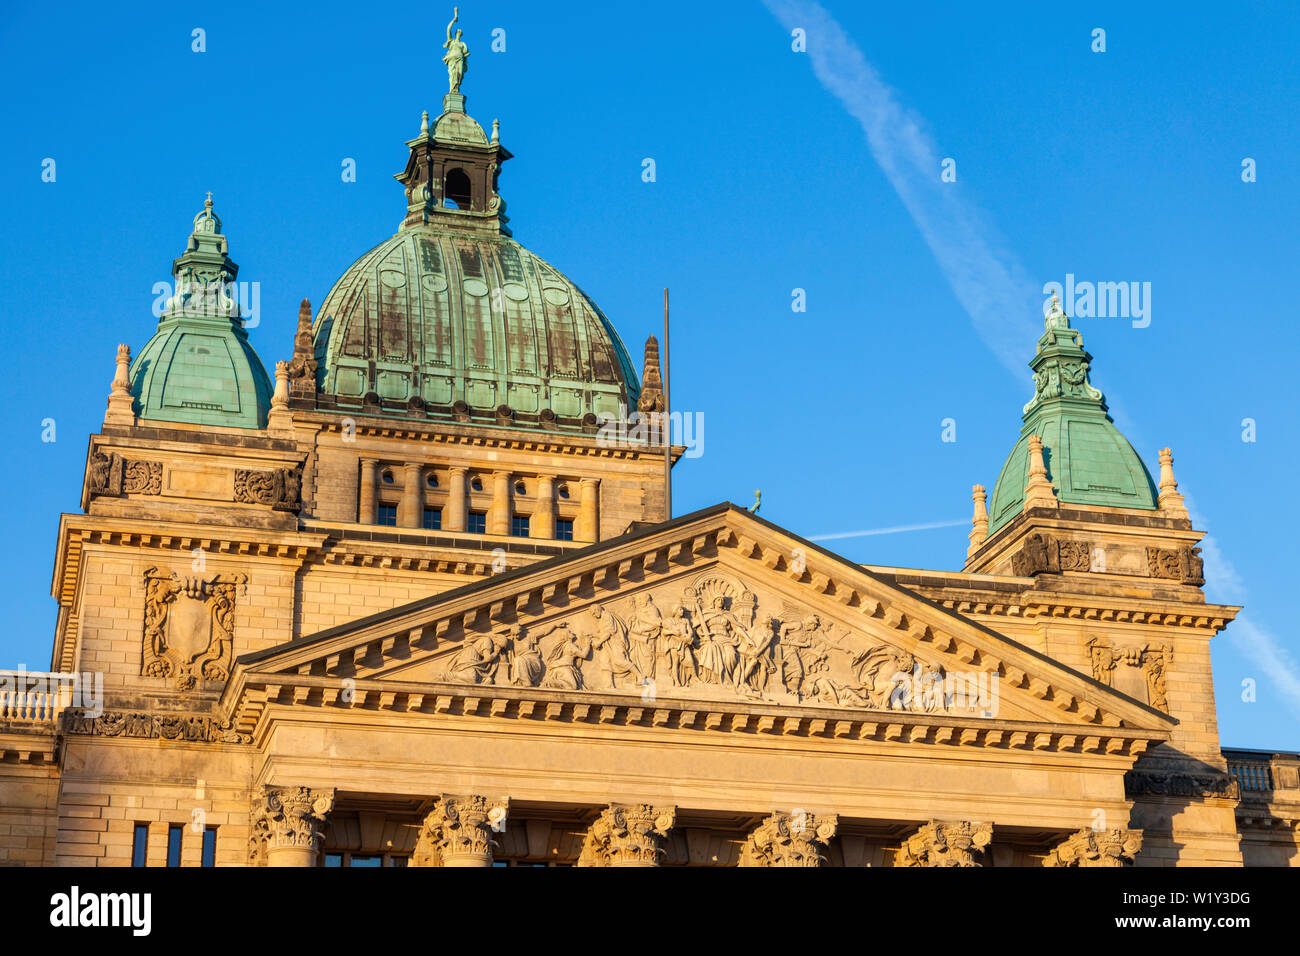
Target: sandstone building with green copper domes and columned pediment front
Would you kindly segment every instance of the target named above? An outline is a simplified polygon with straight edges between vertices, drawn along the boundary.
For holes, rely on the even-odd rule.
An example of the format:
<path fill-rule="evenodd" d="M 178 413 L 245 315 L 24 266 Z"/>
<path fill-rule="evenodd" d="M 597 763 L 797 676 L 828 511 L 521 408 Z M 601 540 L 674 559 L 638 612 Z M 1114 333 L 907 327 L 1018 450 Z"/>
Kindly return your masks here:
<path fill-rule="evenodd" d="M 1173 455 L 1058 306 L 961 570 L 671 516 L 663 445 L 602 428 L 664 411 L 658 345 L 511 238 L 450 44 L 398 233 L 273 376 L 211 195 L 118 350 L 51 672 L 0 697 L 0 861 L 1300 864 L 1300 757 L 1221 749 L 1239 609 Z"/>

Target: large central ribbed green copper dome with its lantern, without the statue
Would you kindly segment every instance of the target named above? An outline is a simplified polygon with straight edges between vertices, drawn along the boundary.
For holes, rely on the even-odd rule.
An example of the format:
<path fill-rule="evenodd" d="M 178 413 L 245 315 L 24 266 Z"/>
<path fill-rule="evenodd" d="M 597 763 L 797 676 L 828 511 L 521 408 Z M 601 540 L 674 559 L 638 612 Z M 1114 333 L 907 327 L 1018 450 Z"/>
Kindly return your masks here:
<path fill-rule="evenodd" d="M 610 320 L 511 238 L 498 135 L 448 94 L 432 130 L 425 116 L 407 143 L 406 219 L 317 311 L 317 407 L 556 429 L 636 407 L 637 375 Z"/>

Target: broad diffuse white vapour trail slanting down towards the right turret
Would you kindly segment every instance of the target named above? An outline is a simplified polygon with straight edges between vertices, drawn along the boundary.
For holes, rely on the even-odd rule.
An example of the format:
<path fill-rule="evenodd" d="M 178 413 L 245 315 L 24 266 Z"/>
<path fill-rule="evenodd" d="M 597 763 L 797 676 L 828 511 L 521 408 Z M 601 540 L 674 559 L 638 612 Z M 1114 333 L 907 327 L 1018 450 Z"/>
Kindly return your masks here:
<path fill-rule="evenodd" d="M 819 4 L 763 0 L 786 30 L 802 29 L 818 82 L 862 126 L 872 157 L 916 224 L 984 345 L 1018 377 L 1041 333 L 1041 284 L 1005 247 L 988 217 L 940 179 L 941 153 L 924 118 L 907 109 Z M 958 170 L 961 164 L 958 163 Z M 958 172 L 959 182 L 959 172 Z"/>

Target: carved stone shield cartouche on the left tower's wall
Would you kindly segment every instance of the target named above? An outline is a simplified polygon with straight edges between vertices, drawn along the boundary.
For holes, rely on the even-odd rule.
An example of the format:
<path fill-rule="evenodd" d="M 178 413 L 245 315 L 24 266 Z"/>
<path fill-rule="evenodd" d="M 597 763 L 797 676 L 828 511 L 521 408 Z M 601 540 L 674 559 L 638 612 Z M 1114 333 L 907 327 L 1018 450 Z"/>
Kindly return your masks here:
<path fill-rule="evenodd" d="M 229 680 L 234 652 L 235 594 L 244 575 L 204 580 L 144 572 L 144 648 L 140 674 L 173 678 L 190 691 L 202 680 Z"/>

